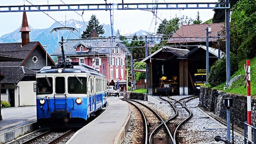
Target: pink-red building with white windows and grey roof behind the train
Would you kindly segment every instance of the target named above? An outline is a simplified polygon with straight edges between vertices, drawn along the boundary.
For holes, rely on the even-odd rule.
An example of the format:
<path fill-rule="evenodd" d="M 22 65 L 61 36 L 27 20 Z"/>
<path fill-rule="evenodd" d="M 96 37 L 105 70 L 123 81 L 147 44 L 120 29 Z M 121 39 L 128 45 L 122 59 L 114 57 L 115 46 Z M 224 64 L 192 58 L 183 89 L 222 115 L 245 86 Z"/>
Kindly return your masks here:
<path fill-rule="evenodd" d="M 107 77 L 111 82 L 114 80 L 119 89 L 126 91 L 126 57 L 130 55 L 125 43 L 121 40 L 113 42 L 112 54 L 110 41 L 100 39 L 94 29 L 91 39 L 72 39 L 64 43 L 64 53 L 67 61 L 80 62 L 94 67 Z M 52 54 L 61 60 L 61 47 L 59 46 Z"/>

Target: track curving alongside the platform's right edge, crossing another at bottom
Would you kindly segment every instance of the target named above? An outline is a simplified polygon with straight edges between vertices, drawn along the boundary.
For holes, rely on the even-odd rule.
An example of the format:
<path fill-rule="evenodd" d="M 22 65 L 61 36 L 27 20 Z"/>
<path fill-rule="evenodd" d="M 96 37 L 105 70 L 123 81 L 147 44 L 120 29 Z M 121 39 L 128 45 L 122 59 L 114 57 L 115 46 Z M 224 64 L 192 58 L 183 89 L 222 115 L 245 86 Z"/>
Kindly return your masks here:
<path fill-rule="evenodd" d="M 131 103 L 134 106 L 137 106 L 136 108 L 139 108 L 142 113 L 144 113 L 145 120 L 147 123 L 147 126 L 145 125 L 145 127 L 148 127 L 148 133 L 147 133 L 147 141 L 145 140 L 145 144 L 149 143 L 149 144 L 174 144 L 174 139 L 173 136 L 168 128 L 168 126 L 166 125 L 165 121 L 163 120 L 163 118 L 152 108 L 137 102 L 135 100 L 126 100 L 127 102 Z M 136 103 L 136 104 L 135 104 Z M 143 110 L 142 110 L 143 109 Z M 155 117 L 158 119 L 158 121 L 156 122 L 156 120 L 152 119 L 152 114 L 150 115 L 148 111 L 152 112 Z M 146 139 L 146 138 L 145 138 Z"/>

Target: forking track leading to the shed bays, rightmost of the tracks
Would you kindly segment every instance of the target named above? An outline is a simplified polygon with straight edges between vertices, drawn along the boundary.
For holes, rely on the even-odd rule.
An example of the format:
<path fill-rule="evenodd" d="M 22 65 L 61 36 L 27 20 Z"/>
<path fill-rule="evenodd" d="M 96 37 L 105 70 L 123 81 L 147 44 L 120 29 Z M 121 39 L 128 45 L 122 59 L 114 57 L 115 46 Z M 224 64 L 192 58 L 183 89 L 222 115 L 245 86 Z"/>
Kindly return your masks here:
<path fill-rule="evenodd" d="M 192 112 L 189 108 L 186 107 L 186 103 L 189 102 L 190 100 L 196 98 L 197 96 L 189 96 L 189 97 L 185 97 L 179 100 L 170 98 L 168 100 L 162 98 L 160 96 L 160 99 L 168 102 L 170 104 L 170 106 L 174 109 L 175 111 L 175 115 L 168 119 L 167 121 L 165 121 L 165 123 L 167 123 L 171 133 L 173 134 L 173 138 L 174 138 L 174 144 L 181 144 L 184 143 L 182 140 L 182 137 L 178 137 L 178 133 L 179 130 L 181 128 L 182 125 L 184 125 L 188 120 L 190 120 L 190 118 L 192 117 Z M 187 112 L 185 112 L 187 111 Z"/>

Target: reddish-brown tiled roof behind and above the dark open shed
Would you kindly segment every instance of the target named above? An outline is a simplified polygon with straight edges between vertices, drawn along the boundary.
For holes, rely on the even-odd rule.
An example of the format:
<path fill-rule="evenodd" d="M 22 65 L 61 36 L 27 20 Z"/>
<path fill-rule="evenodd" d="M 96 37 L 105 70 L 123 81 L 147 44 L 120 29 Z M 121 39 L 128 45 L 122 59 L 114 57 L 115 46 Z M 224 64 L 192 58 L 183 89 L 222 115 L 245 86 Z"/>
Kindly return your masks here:
<path fill-rule="evenodd" d="M 206 27 L 211 27 L 209 36 L 218 36 L 218 33 L 224 29 L 224 23 L 183 25 L 167 41 L 167 43 L 184 42 L 205 42 Z M 209 41 L 217 41 L 217 38 L 209 37 Z"/>

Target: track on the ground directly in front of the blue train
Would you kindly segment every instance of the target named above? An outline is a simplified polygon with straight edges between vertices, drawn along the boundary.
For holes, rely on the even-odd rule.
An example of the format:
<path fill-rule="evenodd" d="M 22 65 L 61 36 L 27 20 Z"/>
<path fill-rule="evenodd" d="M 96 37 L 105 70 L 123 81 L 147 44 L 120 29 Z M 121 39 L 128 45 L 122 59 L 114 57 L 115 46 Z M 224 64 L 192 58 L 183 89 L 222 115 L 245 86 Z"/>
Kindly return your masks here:
<path fill-rule="evenodd" d="M 28 140 L 22 142 L 21 144 L 33 144 L 33 143 L 38 143 L 40 141 L 43 143 L 46 143 L 46 144 L 55 144 L 55 143 L 58 143 L 59 140 L 61 140 L 66 135 L 70 134 L 71 132 L 73 132 L 72 129 L 69 129 L 65 132 L 54 132 L 53 130 L 48 130 L 48 131 L 43 132 L 31 139 L 28 139 Z M 49 137 L 49 136 L 56 136 L 56 137 L 54 139 L 47 141 L 45 137 Z"/>

